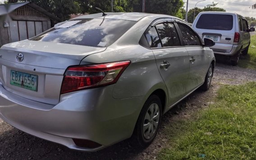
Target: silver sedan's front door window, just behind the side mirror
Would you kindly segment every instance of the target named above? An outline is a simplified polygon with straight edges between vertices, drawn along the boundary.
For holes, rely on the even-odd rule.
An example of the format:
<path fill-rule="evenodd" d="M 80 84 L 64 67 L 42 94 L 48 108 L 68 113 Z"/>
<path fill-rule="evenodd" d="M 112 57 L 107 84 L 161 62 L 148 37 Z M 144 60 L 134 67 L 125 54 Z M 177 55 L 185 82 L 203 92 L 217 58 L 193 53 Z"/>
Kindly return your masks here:
<path fill-rule="evenodd" d="M 197 34 L 187 25 L 178 23 L 186 46 L 200 46 L 200 39 Z"/>

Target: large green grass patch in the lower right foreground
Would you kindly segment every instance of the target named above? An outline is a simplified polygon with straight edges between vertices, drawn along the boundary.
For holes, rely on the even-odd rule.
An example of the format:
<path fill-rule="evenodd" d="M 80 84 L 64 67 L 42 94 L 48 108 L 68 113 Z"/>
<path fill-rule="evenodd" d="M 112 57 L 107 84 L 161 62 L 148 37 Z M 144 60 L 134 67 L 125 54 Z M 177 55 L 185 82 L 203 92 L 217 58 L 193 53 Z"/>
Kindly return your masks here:
<path fill-rule="evenodd" d="M 160 160 L 256 160 L 256 82 L 224 85 L 218 103 L 170 127 Z"/>

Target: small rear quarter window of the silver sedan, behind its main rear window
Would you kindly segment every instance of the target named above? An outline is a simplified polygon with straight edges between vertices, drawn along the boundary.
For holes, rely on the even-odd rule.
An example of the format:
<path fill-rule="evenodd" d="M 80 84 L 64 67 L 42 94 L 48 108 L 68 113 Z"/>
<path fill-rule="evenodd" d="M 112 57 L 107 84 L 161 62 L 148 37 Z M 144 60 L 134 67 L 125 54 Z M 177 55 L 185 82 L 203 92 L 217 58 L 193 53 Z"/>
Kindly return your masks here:
<path fill-rule="evenodd" d="M 152 27 L 145 36 L 150 48 L 162 47 L 155 27 Z"/>

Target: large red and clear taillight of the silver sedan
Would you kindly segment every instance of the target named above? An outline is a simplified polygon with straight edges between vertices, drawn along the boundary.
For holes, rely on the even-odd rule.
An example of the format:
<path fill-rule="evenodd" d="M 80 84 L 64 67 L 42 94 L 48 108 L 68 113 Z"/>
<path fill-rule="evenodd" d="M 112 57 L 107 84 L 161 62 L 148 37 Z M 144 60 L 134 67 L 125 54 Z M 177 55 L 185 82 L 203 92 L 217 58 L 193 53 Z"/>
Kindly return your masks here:
<path fill-rule="evenodd" d="M 64 75 L 60 94 L 114 84 L 130 63 L 121 61 L 69 67 Z"/>

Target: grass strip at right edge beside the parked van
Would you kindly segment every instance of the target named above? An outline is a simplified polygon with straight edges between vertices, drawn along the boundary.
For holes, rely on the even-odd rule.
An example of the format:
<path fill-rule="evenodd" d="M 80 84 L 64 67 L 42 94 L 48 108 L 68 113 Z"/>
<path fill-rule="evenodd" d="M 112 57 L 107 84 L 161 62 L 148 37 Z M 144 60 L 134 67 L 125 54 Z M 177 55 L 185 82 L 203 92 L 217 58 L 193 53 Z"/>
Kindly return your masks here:
<path fill-rule="evenodd" d="M 255 46 L 255 48 L 252 48 Z M 256 69 L 256 35 L 251 36 L 251 44 L 249 47 L 248 54 L 242 56 L 238 61 L 238 66 L 242 68 Z"/>

